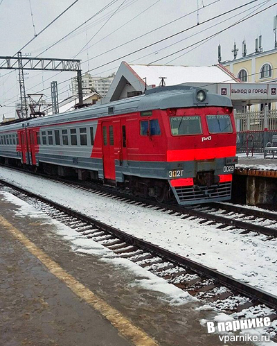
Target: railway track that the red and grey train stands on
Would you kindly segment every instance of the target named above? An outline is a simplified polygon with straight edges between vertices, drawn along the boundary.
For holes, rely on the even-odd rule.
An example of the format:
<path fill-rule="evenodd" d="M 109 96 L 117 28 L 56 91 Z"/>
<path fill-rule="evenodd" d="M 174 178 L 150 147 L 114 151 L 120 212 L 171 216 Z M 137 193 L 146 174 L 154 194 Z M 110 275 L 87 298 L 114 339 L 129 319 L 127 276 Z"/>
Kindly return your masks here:
<path fill-rule="evenodd" d="M 9 167 L 15 169 L 14 167 Z M 54 180 L 66 184 L 66 186 L 86 189 L 107 198 L 117 198 L 126 203 L 134 203 L 144 207 L 153 207 L 168 214 L 175 214 L 181 218 L 190 218 L 195 222 L 203 225 L 214 225 L 219 229 L 240 229 L 242 234 L 255 232 L 265 234 L 267 239 L 273 239 L 277 236 L 277 213 L 265 211 L 262 209 L 251 209 L 239 205 L 231 205 L 228 203 L 213 202 L 203 205 L 184 207 L 175 203 L 163 203 L 148 198 L 132 195 L 127 189 L 115 189 L 105 186 L 100 182 L 73 182 L 64 178 L 52 178 L 42 173 L 26 172 L 21 168 L 16 171 L 23 171 L 31 175 L 37 175 L 47 180 Z"/>

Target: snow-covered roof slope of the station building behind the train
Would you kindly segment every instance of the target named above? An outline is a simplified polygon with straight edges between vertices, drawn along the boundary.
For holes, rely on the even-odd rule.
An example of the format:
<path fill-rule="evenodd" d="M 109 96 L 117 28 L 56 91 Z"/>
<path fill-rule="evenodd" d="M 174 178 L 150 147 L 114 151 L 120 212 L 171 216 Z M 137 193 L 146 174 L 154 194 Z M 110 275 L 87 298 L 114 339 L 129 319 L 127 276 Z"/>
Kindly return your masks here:
<path fill-rule="evenodd" d="M 160 77 L 166 77 L 166 85 L 183 83 L 233 83 L 233 78 L 218 66 L 166 66 L 132 65 L 134 72 L 141 78 L 147 78 L 148 85 L 158 86 Z M 227 82 L 228 81 L 228 82 Z"/>

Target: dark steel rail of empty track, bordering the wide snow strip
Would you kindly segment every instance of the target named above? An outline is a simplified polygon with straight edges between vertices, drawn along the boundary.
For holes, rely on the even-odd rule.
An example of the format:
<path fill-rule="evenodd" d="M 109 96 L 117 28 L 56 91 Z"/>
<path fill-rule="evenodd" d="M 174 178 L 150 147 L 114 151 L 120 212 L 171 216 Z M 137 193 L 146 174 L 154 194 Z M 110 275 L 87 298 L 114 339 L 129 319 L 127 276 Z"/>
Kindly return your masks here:
<path fill-rule="evenodd" d="M 106 231 L 109 234 L 113 234 L 117 236 L 118 238 L 122 239 L 123 241 L 126 241 L 127 243 L 131 245 L 136 245 L 137 248 L 140 248 L 142 250 L 148 250 L 150 252 L 154 252 L 155 254 L 159 254 L 161 257 L 166 258 L 176 264 L 179 264 L 181 266 L 186 266 L 191 269 L 193 269 L 196 273 L 206 275 L 207 277 L 211 277 L 213 279 L 216 279 L 217 282 L 220 282 L 224 284 L 224 286 L 227 286 L 231 289 L 235 289 L 235 291 L 238 291 L 238 293 L 241 293 L 242 295 L 245 295 L 251 300 L 258 300 L 258 302 L 261 302 L 262 304 L 267 304 L 267 306 L 271 307 L 272 309 L 277 309 L 277 296 L 272 295 L 271 293 L 267 293 L 260 288 L 253 287 L 249 284 L 246 284 L 244 282 L 241 282 L 238 279 L 234 279 L 233 277 L 229 277 L 228 275 L 225 275 L 224 273 L 219 272 L 216 269 L 208 268 L 207 266 L 204 266 L 201 263 L 197 263 L 191 259 L 188 259 L 186 257 L 183 257 L 179 254 L 175 254 L 174 252 L 171 252 L 169 250 L 166 250 L 164 248 L 159 247 L 158 245 L 155 245 L 153 243 L 150 243 L 148 241 L 144 241 L 143 239 L 139 239 L 136 236 L 132 236 L 130 234 L 127 234 L 126 232 L 123 232 L 121 230 L 118 230 L 110 225 L 107 225 L 105 223 L 102 223 L 95 218 L 91 218 L 87 215 L 84 215 L 78 211 L 75 211 L 69 207 L 64 207 L 63 205 L 60 205 L 59 203 L 53 202 L 52 200 L 48 200 L 48 198 L 44 198 L 42 196 L 36 195 L 33 192 L 30 192 L 26 189 L 23 189 L 21 187 L 18 187 L 15 184 L 12 184 L 10 182 L 6 182 L 5 180 L 0 179 L 0 183 L 3 185 L 6 185 L 8 187 L 11 187 L 12 189 L 15 189 L 21 193 L 25 193 L 26 195 L 36 198 L 42 202 L 45 202 L 48 205 L 51 205 L 52 207 L 55 207 L 55 209 L 58 209 L 60 211 L 63 211 L 64 213 L 68 214 L 69 216 L 72 216 L 74 218 L 78 218 L 79 220 L 82 220 L 86 223 L 89 223 L 91 225 L 94 225 L 98 227 L 100 230 Z"/>

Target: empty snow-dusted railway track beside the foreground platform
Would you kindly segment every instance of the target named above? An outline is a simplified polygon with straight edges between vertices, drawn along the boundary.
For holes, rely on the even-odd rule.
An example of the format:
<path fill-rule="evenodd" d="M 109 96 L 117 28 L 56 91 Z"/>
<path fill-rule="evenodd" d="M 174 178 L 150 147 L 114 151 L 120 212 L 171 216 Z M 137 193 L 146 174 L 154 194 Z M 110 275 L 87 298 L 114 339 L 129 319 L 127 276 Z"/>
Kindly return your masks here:
<path fill-rule="evenodd" d="M 186 257 L 170 252 L 157 245 L 127 234 L 100 221 L 59 205 L 51 200 L 37 196 L 14 184 L 0 180 L 6 191 L 41 209 L 48 216 L 59 220 L 76 232 L 93 239 L 109 248 L 118 257 L 129 259 L 137 265 L 163 277 L 170 284 L 196 296 L 217 311 L 233 313 L 236 311 L 255 311 L 255 317 L 269 316 L 277 319 L 277 297 L 241 282 L 219 271 L 208 268 Z M 268 313 L 270 308 L 270 313 Z M 272 340 L 277 341 L 277 330 L 267 331 Z"/>

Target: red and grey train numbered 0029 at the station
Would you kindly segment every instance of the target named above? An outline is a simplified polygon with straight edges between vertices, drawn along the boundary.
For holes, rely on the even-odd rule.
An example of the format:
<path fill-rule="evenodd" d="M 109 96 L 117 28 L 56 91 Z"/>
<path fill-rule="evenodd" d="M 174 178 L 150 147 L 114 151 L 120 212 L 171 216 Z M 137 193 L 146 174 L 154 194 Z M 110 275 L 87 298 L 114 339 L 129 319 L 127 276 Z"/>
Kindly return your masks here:
<path fill-rule="evenodd" d="M 141 96 L 0 126 L 2 164 L 131 189 L 180 205 L 229 200 L 235 169 L 229 98 L 156 87 Z"/>

